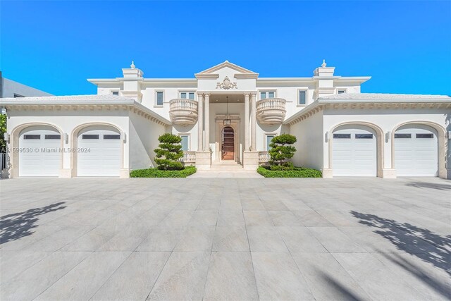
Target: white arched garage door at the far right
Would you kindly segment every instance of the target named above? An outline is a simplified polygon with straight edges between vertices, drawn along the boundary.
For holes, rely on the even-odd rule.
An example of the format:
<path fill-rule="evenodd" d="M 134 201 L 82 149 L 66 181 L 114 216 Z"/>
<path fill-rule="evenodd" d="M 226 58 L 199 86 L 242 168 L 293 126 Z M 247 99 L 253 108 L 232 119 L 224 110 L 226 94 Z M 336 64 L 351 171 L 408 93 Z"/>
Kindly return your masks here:
<path fill-rule="evenodd" d="M 427 125 L 403 125 L 394 137 L 397 176 L 438 176 L 436 130 Z"/>

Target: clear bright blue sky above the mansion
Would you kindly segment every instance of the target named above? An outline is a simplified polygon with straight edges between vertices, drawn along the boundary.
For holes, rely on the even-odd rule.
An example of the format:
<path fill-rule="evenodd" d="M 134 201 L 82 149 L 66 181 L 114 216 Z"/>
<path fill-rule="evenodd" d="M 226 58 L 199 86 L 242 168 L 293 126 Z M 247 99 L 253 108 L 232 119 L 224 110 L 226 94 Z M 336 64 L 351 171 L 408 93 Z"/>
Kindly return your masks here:
<path fill-rule="evenodd" d="M 4 77 L 52 94 L 135 65 L 192 78 L 225 60 L 261 77 L 371 75 L 362 92 L 451 94 L 451 1 L 0 1 Z"/>

